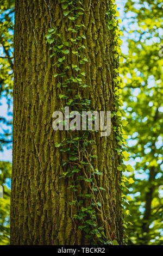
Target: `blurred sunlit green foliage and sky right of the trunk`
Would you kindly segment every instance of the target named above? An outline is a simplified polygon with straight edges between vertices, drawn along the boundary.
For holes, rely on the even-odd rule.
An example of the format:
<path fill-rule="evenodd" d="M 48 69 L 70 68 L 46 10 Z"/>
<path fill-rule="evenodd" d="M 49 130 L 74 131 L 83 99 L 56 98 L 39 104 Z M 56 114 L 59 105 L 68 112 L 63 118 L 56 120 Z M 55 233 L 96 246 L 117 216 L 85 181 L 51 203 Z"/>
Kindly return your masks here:
<path fill-rule="evenodd" d="M 135 180 L 126 191 L 133 198 L 127 206 L 129 245 L 163 245 L 162 6 L 161 0 L 128 0 L 125 6 L 129 52 L 122 64 L 122 95 L 129 162 L 135 169 L 126 172 Z"/>

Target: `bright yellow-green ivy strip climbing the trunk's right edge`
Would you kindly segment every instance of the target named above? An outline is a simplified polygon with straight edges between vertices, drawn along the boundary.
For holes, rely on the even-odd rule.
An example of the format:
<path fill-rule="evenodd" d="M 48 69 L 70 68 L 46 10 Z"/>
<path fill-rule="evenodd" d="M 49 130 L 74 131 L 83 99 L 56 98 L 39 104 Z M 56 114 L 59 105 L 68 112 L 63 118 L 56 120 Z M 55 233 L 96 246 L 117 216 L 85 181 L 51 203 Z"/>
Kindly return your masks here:
<path fill-rule="evenodd" d="M 121 100 L 121 93 L 122 88 L 126 86 L 124 84 L 120 74 L 121 74 L 121 66 L 119 63 L 123 63 L 123 57 L 121 53 L 121 45 L 122 40 L 120 39 L 120 36 L 123 36 L 122 31 L 118 28 L 118 23 L 121 23 L 120 19 L 117 19 L 119 16 L 118 11 L 116 11 L 116 4 L 114 4 L 115 1 L 113 0 L 110 5 L 109 11 L 106 13 L 108 15 L 108 29 L 112 30 L 114 28 L 114 71 L 115 71 L 115 91 L 114 91 L 114 102 L 115 102 L 115 111 L 111 114 L 112 121 L 115 124 L 113 126 L 114 132 L 116 134 L 116 141 L 117 141 L 117 148 L 115 148 L 115 151 L 117 151 L 118 154 L 118 160 L 119 165 L 117 169 L 121 172 L 121 190 L 122 190 L 122 208 L 123 208 L 123 215 L 121 216 L 123 221 L 123 231 L 124 231 L 124 237 L 122 242 L 125 244 L 127 242 L 127 236 L 126 236 L 126 228 L 128 225 L 132 224 L 130 222 L 125 221 L 125 216 L 129 215 L 129 210 L 127 210 L 126 204 L 129 204 L 129 201 L 131 198 L 129 196 L 126 196 L 125 193 L 123 193 L 124 188 L 128 189 L 126 187 L 126 184 L 133 184 L 134 180 L 132 178 L 127 178 L 125 175 L 123 175 L 124 172 L 133 172 L 133 168 L 128 164 L 124 164 L 124 161 L 128 161 L 128 157 L 130 154 L 126 151 L 126 139 L 128 136 L 126 135 L 123 127 L 127 126 L 128 121 L 124 118 L 126 113 L 121 108 L 123 106 L 123 101 Z"/>

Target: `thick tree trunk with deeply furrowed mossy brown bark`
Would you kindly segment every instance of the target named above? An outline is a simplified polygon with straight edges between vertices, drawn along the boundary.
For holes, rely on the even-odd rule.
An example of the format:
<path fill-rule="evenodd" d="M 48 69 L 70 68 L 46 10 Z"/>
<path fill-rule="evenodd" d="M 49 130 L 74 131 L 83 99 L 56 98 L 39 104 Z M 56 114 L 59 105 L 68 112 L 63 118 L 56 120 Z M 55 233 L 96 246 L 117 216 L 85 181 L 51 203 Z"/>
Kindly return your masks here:
<path fill-rule="evenodd" d="M 84 14 L 77 19 L 83 23 L 80 33 L 85 46 L 83 57 L 88 62 L 81 66 L 87 84 L 80 96 L 91 101 L 90 110 L 114 111 L 114 29 L 106 28 L 106 11 L 109 1 L 82 1 Z M 68 28 L 74 23 L 63 15 L 61 1 L 24 0 L 15 3 L 14 38 L 14 125 L 13 163 L 11 184 L 11 245 L 87 245 L 90 240 L 79 228 L 80 221 L 76 205 L 70 205 L 73 195 L 90 193 L 90 183 L 80 181 L 79 191 L 67 189 L 71 180 L 60 178 L 68 166 L 62 161 L 68 153 L 55 147 L 68 136 L 67 131 L 54 131 L 52 114 L 60 110 L 60 88 L 58 77 L 54 77 L 55 57 L 46 44 L 46 33 L 50 27 L 57 27 L 58 33 L 70 42 L 70 51 L 78 47 L 71 44 L 75 38 Z M 79 42 L 81 45 L 81 41 Z M 73 53 L 66 55 L 65 65 L 78 65 Z M 74 70 L 68 71 L 70 77 Z M 74 85 L 72 85 L 74 86 Z M 79 88 L 73 88 L 78 92 Z M 65 88 L 67 90 L 67 88 Z M 74 90 L 71 93 L 74 96 Z M 65 101 L 62 101 L 65 102 Z M 102 175 L 96 176 L 98 187 L 103 187 L 99 209 L 96 209 L 98 227 L 104 228 L 107 240 L 122 243 L 120 171 L 117 170 L 118 156 L 115 133 L 101 137 L 92 133 L 95 139 L 88 147 L 97 155 L 96 166 Z M 74 132 L 83 136 L 81 132 Z M 84 172 L 84 170 L 82 171 Z M 88 207 L 85 199 L 83 207 Z M 100 213 L 100 214 L 99 214 Z M 93 239 L 95 242 L 96 239 Z M 98 243 L 98 241 L 96 241 Z"/>

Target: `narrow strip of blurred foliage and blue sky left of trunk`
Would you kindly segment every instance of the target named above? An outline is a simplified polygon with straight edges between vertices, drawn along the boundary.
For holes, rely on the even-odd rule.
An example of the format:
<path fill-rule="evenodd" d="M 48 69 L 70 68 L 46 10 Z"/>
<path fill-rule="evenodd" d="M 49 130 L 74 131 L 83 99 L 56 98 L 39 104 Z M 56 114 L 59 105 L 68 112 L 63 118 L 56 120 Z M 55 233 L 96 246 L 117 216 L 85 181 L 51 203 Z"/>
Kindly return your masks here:
<path fill-rule="evenodd" d="M 13 69 L 13 17 L 14 1 L 0 1 L 0 105 L 6 102 L 7 113 L 4 115 L 3 106 L 0 106 L 0 151 L 8 154 L 11 147 L 11 111 L 12 106 L 12 69 Z M 8 157 L 6 157 L 8 158 Z M 3 186 L 3 199 L 0 199 L 0 245 L 9 245 L 10 234 L 10 179 L 11 163 L 0 161 L 0 185 Z"/>

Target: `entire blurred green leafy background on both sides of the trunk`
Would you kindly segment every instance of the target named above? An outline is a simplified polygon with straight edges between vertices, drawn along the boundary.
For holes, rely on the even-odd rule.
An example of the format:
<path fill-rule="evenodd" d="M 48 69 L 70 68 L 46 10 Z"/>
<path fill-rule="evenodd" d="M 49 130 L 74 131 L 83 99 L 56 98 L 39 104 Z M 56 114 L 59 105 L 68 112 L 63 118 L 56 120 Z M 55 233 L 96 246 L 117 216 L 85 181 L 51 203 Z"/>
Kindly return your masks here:
<path fill-rule="evenodd" d="M 0 2 L 0 100 L 5 97 L 10 107 L 14 1 Z M 121 77 L 131 167 L 124 174 L 135 180 L 125 191 L 129 199 L 128 245 L 163 245 L 161 16 L 161 0 L 126 1 L 121 28 L 128 53 L 123 56 Z M 1 150 L 10 147 L 10 126 L 10 119 L 0 113 Z M 0 161 L 0 185 L 4 187 L 4 199 L 0 199 L 0 245 L 9 244 L 10 175 L 11 163 Z"/>

